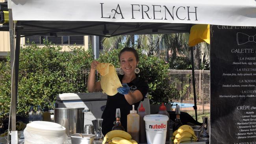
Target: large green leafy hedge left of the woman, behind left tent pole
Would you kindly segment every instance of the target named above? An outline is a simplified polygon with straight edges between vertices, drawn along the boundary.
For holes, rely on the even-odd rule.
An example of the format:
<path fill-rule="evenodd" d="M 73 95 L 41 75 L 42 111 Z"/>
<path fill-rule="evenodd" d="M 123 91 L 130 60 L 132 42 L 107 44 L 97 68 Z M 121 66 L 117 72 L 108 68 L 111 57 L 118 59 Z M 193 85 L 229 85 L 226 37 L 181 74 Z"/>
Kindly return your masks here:
<path fill-rule="evenodd" d="M 49 42 L 20 49 L 17 114 L 24 116 L 30 105 L 53 105 L 56 96 L 65 92 L 85 92 L 81 69 L 89 68 L 91 50 L 71 46 L 72 52 L 59 52 L 60 46 Z M 0 119 L 8 116 L 11 97 L 10 58 L 0 63 Z"/>

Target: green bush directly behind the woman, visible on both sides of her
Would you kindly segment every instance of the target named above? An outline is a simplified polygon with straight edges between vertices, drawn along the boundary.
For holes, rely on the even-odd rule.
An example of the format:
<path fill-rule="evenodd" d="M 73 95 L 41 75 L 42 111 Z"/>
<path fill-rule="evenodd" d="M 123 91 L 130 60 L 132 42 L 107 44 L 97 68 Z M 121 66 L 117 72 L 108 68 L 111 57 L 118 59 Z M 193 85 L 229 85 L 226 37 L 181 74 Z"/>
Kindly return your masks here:
<path fill-rule="evenodd" d="M 101 54 L 98 61 L 101 63 L 112 63 L 115 68 L 120 68 L 119 52 L 121 49 L 114 49 Z M 140 69 L 139 76 L 148 82 L 148 97 L 151 103 L 171 103 L 174 96 L 174 85 L 167 85 L 166 78 L 168 76 L 168 63 L 158 59 L 153 55 L 147 56 L 142 50 L 137 50 L 139 54 Z"/>

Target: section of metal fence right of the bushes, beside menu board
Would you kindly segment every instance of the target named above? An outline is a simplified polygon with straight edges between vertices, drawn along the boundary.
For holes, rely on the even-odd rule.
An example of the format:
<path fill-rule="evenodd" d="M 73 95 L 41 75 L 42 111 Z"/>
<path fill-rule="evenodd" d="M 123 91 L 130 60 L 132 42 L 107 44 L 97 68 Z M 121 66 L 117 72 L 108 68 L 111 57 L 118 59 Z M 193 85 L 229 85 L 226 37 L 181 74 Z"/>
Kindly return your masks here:
<path fill-rule="evenodd" d="M 180 105 L 181 111 L 195 115 L 192 70 L 169 70 L 169 83 L 175 83 L 178 98 L 173 104 Z M 210 113 L 210 70 L 195 70 L 197 113 Z"/>

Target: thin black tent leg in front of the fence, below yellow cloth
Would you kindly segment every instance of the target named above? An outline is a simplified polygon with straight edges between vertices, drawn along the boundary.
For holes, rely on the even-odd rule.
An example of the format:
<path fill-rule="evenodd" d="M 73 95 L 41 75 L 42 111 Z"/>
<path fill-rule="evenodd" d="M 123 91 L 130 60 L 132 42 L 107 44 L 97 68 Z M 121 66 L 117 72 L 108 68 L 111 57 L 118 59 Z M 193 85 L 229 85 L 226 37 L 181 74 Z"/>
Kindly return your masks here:
<path fill-rule="evenodd" d="M 193 94 L 194 94 L 194 109 L 195 109 L 195 115 L 196 115 L 196 121 L 197 121 L 197 96 L 196 96 L 196 87 L 195 87 L 195 66 L 194 66 L 194 52 L 193 47 L 191 48 L 191 65 L 192 65 L 192 82 L 193 82 Z"/>

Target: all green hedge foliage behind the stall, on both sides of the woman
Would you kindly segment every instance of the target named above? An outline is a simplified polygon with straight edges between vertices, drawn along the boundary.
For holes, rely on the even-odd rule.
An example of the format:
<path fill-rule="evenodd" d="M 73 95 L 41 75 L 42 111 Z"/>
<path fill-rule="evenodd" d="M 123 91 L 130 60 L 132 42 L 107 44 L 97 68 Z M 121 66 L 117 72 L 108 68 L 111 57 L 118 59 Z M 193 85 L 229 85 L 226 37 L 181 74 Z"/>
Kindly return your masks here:
<path fill-rule="evenodd" d="M 93 55 L 91 50 L 70 47 L 72 52 L 60 52 L 61 47 L 45 42 L 39 47 L 31 44 L 20 49 L 19 95 L 17 114 L 27 116 L 30 105 L 55 103 L 56 96 L 67 92 L 87 92 L 86 78 L 81 69 L 90 68 Z M 118 54 L 121 49 L 113 49 L 101 54 L 98 61 L 112 63 L 120 68 Z M 148 82 L 148 96 L 151 103 L 170 103 L 174 87 L 165 81 L 168 64 L 158 57 L 139 53 L 139 76 Z M 10 58 L 0 63 L 0 119 L 9 115 L 11 97 Z"/>

